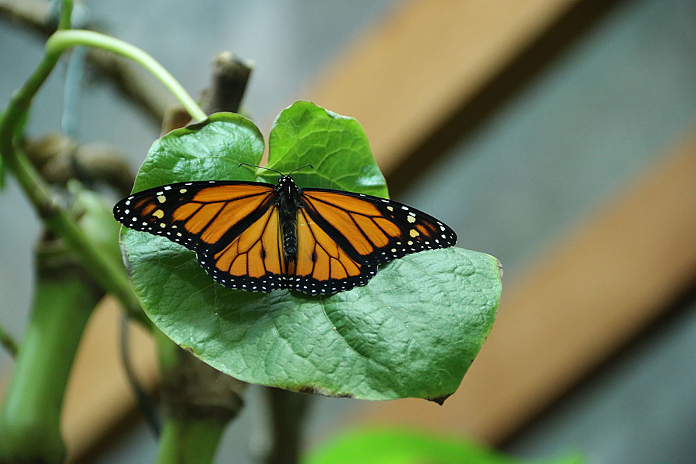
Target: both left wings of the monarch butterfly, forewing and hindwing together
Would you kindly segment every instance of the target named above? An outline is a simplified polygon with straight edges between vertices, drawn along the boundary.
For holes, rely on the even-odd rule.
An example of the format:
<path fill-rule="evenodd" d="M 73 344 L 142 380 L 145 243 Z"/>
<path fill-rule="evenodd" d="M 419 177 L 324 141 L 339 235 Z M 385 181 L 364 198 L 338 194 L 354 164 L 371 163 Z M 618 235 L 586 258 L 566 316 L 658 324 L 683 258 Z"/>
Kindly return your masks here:
<path fill-rule="evenodd" d="M 274 185 L 181 182 L 134 193 L 113 207 L 125 226 L 194 250 L 221 285 L 248 291 L 285 287 Z"/>

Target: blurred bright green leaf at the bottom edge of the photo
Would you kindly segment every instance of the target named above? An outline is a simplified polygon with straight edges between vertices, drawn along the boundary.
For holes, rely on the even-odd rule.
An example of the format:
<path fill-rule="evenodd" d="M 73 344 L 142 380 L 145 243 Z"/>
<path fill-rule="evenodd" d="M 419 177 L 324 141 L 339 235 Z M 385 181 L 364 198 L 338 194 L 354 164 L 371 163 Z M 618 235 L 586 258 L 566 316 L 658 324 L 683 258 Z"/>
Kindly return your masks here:
<path fill-rule="evenodd" d="M 574 454 L 547 464 L 580 464 Z M 344 433 L 303 456 L 302 464 L 521 464 L 474 442 L 408 429 L 372 427 Z"/>

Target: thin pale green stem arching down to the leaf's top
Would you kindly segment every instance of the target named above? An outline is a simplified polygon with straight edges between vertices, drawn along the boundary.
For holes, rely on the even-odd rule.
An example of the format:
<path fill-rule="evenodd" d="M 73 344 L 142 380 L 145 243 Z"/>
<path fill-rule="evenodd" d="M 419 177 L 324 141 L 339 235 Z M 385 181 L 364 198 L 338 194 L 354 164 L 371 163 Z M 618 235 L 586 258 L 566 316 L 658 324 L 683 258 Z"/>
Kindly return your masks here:
<path fill-rule="evenodd" d="M 200 106 L 196 104 L 195 100 L 191 98 L 191 95 L 184 90 L 181 84 L 178 83 L 162 65 L 155 61 L 155 58 L 152 58 L 152 56 L 145 53 L 145 51 L 123 40 L 93 31 L 81 31 L 78 29 L 58 31 L 49 37 L 46 42 L 46 54 L 47 56 L 53 54 L 60 56 L 63 51 L 75 45 L 100 48 L 132 59 L 152 72 L 152 74 L 179 99 L 181 104 L 191 115 L 191 118 L 200 121 L 207 117 L 205 113 L 203 113 L 203 110 L 200 109 Z"/>

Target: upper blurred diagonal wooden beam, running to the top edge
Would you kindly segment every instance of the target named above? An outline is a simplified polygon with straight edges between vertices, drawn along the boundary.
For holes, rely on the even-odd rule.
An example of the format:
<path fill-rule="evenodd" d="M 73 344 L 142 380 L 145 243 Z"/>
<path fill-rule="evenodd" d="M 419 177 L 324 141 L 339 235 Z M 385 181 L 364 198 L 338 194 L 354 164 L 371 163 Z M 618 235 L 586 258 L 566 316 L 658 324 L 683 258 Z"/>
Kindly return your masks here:
<path fill-rule="evenodd" d="M 400 3 L 299 97 L 361 122 L 390 188 L 397 190 L 614 3 Z"/>

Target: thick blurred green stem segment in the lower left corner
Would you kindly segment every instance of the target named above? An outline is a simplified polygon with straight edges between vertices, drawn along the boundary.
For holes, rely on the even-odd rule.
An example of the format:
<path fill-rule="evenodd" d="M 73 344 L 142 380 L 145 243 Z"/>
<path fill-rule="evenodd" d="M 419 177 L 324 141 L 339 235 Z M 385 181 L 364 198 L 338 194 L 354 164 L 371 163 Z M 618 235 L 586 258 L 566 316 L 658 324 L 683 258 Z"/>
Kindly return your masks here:
<path fill-rule="evenodd" d="M 29 326 L 0 410 L 0 461 L 60 463 L 65 458 L 63 395 L 97 299 L 82 276 L 38 280 Z"/>

